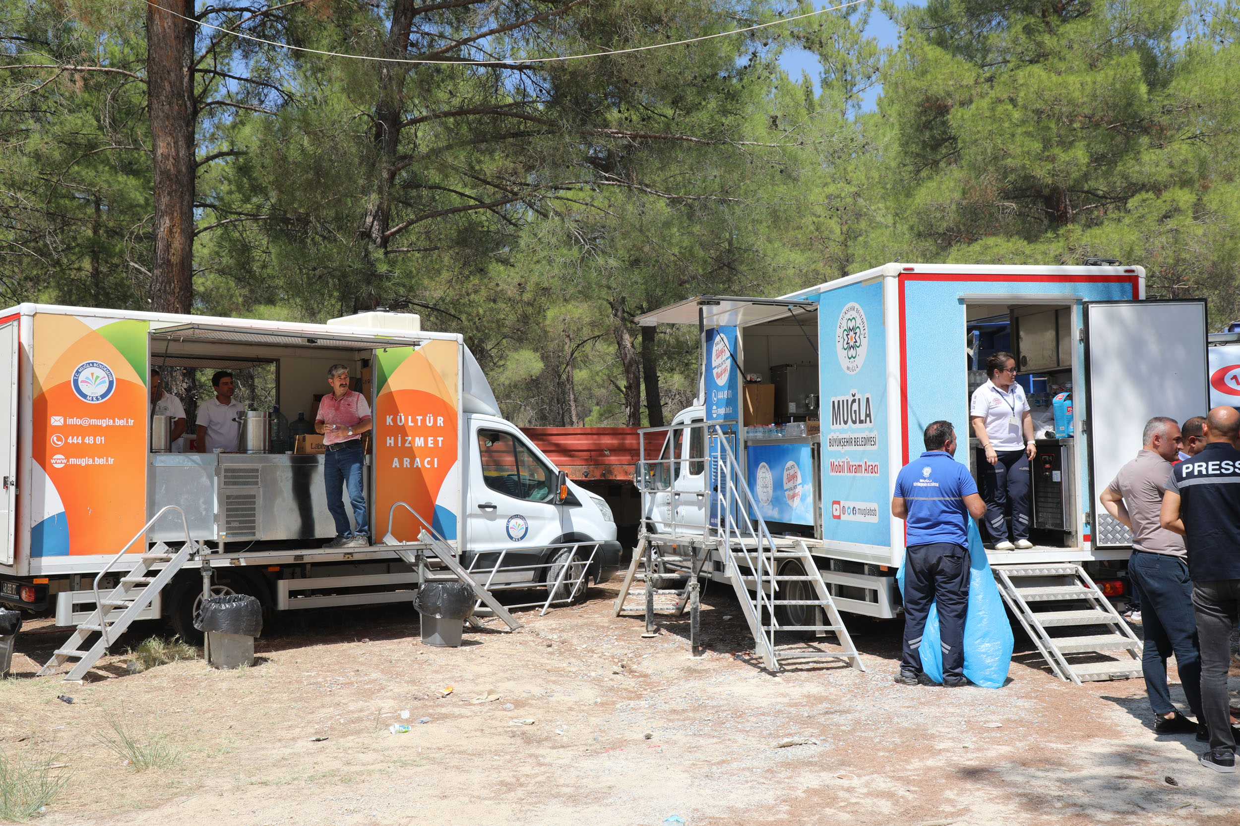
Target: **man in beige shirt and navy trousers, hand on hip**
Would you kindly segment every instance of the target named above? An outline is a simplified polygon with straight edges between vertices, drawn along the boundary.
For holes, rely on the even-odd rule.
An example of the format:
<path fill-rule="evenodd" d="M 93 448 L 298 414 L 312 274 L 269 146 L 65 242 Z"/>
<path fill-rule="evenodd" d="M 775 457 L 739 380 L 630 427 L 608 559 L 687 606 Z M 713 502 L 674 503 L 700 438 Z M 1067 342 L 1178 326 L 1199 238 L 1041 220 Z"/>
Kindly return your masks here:
<path fill-rule="evenodd" d="M 1137 457 L 1120 468 L 1099 498 L 1106 511 L 1132 531 L 1128 581 L 1141 598 L 1141 624 L 1146 635 L 1141 666 L 1146 695 L 1154 710 L 1154 731 L 1192 734 L 1199 732 L 1198 723 L 1176 711 L 1171 702 L 1167 658 L 1176 654 L 1184 697 L 1193 716 L 1203 719 L 1202 654 L 1193 614 L 1193 582 L 1188 576 L 1184 537 L 1158 521 L 1171 463 L 1178 457 L 1182 443 L 1179 425 L 1174 419 L 1154 416 L 1146 422 L 1142 442 Z"/>

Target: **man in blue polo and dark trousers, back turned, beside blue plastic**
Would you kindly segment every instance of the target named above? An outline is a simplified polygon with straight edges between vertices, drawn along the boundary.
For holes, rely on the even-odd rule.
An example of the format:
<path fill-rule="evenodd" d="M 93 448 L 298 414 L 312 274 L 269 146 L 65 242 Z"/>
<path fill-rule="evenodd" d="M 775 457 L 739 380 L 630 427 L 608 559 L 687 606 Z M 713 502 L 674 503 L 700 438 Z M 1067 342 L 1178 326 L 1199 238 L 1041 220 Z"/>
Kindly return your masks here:
<path fill-rule="evenodd" d="M 930 604 L 939 604 L 942 684 L 965 679 L 965 614 L 968 609 L 968 518 L 981 519 L 986 503 L 968 468 L 952 458 L 956 431 L 950 421 L 931 422 L 923 433 L 926 451 L 900 468 L 892 515 L 904 520 L 904 658 L 895 681 L 929 685 L 921 669 L 921 634 Z"/>

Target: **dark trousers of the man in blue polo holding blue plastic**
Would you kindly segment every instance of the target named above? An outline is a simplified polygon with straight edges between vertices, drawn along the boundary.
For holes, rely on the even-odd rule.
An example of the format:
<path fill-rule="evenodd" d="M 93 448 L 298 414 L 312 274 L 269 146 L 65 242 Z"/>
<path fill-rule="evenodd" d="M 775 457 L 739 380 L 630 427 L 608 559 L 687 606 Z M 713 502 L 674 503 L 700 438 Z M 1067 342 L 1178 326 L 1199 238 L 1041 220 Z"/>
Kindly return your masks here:
<path fill-rule="evenodd" d="M 965 614 L 968 612 L 968 549 L 952 542 L 913 545 L 904 554 L 904 659 L 901 671 L 923 672 L 921 635 L 930 603 L 939 604 L 942 679 L 965 679 Z"/>

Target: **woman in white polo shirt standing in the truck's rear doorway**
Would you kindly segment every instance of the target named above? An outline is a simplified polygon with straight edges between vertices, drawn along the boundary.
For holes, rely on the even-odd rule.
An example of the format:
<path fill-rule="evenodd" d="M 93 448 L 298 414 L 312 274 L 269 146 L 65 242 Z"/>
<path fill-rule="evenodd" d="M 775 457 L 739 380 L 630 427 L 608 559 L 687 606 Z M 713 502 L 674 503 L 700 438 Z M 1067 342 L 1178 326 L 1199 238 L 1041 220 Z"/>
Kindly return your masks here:
<path fill-rule="evenodd" d="M 1033 547 L 1029 541 L 1029 461 L 1038 450 L 1033 442 L 1033 416 L 1024 389 L 1016 383 L 1016 358 L 996 353 L 986 359 L 990 381 L 973 390 L 968 420 L 982 443 L 986 462 L 978 462 L 978 487 L 986 500 L 986 531 L 996 551 Z M 1007 514 L 1012 528 L 1008 533 Z"/>

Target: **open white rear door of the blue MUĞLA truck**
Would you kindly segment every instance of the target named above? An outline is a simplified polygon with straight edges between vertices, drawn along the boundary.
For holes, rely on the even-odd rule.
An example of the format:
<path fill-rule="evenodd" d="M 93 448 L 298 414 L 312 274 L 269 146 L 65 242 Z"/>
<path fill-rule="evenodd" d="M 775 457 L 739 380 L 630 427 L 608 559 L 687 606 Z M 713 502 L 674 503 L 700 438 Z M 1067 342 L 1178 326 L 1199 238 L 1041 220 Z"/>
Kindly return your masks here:
<path fill-rule="evenodd" d="M 1085 422 L 1089 446 L 1083 503 L 1095 514 L 1094 547 L 1125 547 L 1132 534 L 1097 497 L 1141 450 L 1154 416 L 1183 422 L 1209 410 L 1205 301 L 1086 301 Z"/>

